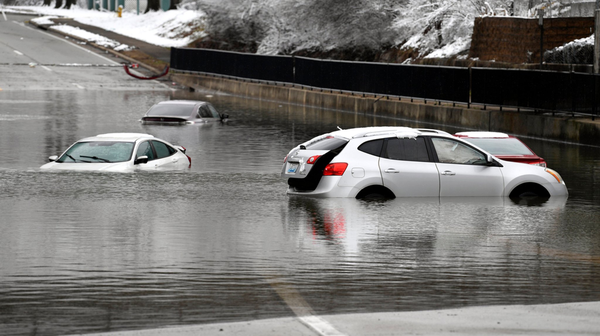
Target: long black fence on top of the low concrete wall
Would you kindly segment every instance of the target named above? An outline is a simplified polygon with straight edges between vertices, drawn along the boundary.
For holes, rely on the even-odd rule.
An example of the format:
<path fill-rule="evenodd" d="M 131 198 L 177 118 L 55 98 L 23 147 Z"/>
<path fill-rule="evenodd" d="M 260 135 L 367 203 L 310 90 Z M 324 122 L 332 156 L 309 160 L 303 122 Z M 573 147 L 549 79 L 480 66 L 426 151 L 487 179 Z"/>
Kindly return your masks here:
<path fill-rule="evenodd" d="M 597 115 L 600 75 L 171 48 L 171 68 L 332 91 Z"/>

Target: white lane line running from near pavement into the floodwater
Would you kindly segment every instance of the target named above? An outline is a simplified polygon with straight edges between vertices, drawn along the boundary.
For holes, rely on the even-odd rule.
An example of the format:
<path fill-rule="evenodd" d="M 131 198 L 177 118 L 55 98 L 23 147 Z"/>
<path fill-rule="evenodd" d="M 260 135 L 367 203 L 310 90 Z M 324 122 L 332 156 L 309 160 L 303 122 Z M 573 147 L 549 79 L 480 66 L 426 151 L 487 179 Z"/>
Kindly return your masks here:
<path fill-rule="evenodd" d="M 322 317 L 316 316 L 313 308 L 291 284 L 285 283 L 278 277 L 268 277 L 266 280 L 305 326 L 313 329 L 320 336 L 347 336 Z"/>

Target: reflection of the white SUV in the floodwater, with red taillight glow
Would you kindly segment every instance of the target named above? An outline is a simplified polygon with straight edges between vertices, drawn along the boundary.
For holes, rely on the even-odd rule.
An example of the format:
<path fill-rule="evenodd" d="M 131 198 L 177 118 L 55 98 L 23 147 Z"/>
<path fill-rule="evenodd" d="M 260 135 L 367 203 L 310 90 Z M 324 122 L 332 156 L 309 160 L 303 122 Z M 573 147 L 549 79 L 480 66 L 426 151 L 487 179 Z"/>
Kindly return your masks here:
<path fill-rule="evenodd" d="M 342 253 L 348 255 L 358 253 L 369 242 L 377 242 L 378 250 L 388 246 L 390 252 L 410 249 L 420 251 L 419 254 L 434 253 L 445 249 L 448 241 L 459 240 L 470 246 L 475 243 L 473 240 L 487 242 L 491 232 L 511 236 L 522 234 L 523 230 L 536 231 L 536 223 L 523 224 L 523 218 L 537 216 L 541 225 L 551 225 L 566 200 L 567 197 L 357 200 L 296 196 L 288 200 L 288 213 L 297 220 L 288 222 L 298 225 L 290 230 L 298 230 L 299 237 L 343 247 Z"/>

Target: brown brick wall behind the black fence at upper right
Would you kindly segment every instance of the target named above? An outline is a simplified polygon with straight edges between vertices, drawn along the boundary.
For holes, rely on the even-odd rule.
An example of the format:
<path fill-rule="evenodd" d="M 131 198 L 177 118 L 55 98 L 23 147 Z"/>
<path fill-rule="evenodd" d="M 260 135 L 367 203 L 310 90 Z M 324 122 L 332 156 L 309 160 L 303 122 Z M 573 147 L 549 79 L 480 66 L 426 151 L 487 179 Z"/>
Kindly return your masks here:
<path fill-rule="evenodd" d="M 593 17 L 544 19 L 544 50 L 590 36 L 593 28 Z M 469 57 L 509 63 L 539 63 L 539 35 L 538 19 L 478 17 L 473 27 Z"/>

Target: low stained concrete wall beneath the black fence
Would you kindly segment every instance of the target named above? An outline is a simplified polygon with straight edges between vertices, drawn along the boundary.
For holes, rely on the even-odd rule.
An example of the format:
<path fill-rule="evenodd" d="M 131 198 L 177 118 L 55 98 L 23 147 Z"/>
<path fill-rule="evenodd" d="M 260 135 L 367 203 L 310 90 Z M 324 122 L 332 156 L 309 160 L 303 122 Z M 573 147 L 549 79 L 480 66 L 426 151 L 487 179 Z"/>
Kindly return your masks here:
<path fill-rule="evenodd" d="M 377 117 L 421 121 L 464 129 L 491 130 L 512 135 L 534 136 L 563 140 L 586 145 L 600 145 L 600 121 L 589 117 L 573 118 L 570 115 L 552 116 L 532 112 L 500 111 L 499 109 L 466 108 L 451 104 L 436 105 L 434 102 L 410 102 L 409 99 L 386 97 L 362 97 L 307 90 L 289 85 L 267 85 L 225 78 L 171 74 L 171 80 L 188 87 L 221 91 L 262 100 L 293 103 L 314 108 L 354 112 L 355 115 L 373 115 L 373 126 L 379 124 Z"/>

